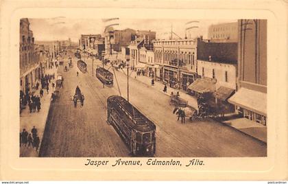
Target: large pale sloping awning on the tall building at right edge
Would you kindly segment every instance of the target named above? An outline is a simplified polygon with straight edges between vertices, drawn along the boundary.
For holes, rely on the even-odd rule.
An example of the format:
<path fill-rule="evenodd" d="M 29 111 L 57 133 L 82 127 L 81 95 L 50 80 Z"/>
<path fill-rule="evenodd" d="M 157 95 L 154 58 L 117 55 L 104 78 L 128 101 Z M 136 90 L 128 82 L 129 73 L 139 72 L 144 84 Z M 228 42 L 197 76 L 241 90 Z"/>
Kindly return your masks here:
<path fill-rule="evenodd" d="M 267 94 L 241 88 L 228 99 L 228 102 L 260 115 L 267 115 Z"/>

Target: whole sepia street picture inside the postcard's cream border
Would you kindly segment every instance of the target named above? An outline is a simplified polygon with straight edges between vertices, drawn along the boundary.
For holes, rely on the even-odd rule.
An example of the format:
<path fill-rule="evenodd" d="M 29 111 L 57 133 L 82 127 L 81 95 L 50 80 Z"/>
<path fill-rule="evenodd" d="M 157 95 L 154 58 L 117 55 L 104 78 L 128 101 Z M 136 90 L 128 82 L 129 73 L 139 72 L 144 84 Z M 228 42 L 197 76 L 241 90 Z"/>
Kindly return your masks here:
<path fill-rule="evenodd" d="M 267 20 L 19 24 L 19 157 L 267 157 Z"/>

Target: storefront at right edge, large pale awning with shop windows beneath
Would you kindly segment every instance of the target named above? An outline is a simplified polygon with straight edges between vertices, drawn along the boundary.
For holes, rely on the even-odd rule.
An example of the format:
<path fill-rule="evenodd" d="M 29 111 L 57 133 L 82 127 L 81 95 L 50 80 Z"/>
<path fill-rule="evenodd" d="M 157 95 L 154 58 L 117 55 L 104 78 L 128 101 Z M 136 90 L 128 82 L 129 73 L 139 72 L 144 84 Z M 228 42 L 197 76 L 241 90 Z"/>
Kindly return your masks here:
<path fill-rule="evenodd" d="M 228 99 L 239 115 L 267 126 L 267 94 L 241 88 Z"/>

